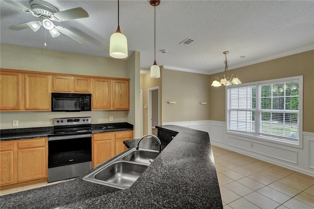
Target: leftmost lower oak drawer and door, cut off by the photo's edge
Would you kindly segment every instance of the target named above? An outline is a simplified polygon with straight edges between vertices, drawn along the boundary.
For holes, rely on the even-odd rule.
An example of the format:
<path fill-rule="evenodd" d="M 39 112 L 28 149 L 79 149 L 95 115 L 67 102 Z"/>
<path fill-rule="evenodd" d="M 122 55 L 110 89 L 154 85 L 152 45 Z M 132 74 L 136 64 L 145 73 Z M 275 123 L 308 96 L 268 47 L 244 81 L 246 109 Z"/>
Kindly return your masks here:
<path fill-rule="evenodd" d="M 0 143 L 0 185 L 13 183 L 13 142 Z"/>

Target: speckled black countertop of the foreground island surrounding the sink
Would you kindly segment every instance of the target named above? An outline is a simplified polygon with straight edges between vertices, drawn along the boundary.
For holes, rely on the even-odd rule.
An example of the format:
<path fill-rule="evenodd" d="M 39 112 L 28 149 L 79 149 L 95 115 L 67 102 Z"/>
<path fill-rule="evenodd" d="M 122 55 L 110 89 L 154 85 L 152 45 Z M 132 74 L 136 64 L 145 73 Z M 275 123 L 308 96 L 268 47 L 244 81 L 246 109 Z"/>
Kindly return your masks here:
<path fill-rule="evenodd" d="M 119 190 L 85 182 L 79 177 L 70 182 L 1 196 L 0 207 L 222 209 L 209 134 L 178 126 L 157 128 L 179 133 L 130 188 Z M 136 141 L 125 143 L 131 146 Z M 145 147 L 144 141 L 141 145 Z M 92 171 L 94 169 L 88 173 Z"/>

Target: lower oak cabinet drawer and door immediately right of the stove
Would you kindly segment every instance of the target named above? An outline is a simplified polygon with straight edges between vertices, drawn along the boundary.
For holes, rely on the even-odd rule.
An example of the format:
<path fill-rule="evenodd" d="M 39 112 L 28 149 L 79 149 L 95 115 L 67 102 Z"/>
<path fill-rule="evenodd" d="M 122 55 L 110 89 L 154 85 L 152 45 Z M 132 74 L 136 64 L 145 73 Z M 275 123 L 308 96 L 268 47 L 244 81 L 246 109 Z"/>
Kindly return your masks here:
<path fill-rule="evenodd" d="M 102 164 L 114 156 L 114 139 L 112 133 L 99 133 L 93 135 L 93 167 Z"/>

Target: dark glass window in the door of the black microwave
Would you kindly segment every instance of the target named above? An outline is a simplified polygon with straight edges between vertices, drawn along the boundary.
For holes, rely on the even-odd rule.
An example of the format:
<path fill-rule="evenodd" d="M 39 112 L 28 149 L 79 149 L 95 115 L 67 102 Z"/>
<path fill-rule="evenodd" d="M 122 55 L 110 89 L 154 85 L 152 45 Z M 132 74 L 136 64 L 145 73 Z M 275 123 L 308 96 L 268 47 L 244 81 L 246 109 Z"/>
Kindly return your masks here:
<path fill-rule="evenodd" d="M 81 110 L 80 98 L 53 98 L 53 110 Z"/>

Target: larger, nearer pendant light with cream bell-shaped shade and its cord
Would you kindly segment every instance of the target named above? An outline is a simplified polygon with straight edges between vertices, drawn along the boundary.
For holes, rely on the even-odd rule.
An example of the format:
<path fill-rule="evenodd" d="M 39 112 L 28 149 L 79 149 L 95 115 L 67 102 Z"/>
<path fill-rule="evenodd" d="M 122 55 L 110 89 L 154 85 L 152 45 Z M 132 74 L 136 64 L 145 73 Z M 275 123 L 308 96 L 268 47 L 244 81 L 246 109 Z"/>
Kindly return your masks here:
<path fill-rule="evenodd" d="M 119 0 L 118 0 L 118 28 L 115 33 L 110 36 L 110 56 L 118 59 L 128 57 L 128 41 L 127 37 L 120 31 L 119 25 Z"/>

